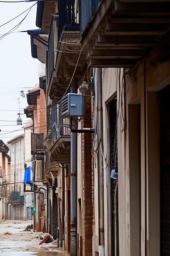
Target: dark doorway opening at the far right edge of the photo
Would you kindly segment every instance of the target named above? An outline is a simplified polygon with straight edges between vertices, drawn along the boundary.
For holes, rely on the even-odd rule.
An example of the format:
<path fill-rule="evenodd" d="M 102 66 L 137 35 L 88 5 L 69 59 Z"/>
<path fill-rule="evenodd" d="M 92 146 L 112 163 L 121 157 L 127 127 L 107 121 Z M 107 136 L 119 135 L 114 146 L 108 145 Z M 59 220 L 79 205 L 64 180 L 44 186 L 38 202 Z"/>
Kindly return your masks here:
<path fill-rule="evenodd" d="M 170 255 L 170 86 L 160 92 L 161 256 Z"/>

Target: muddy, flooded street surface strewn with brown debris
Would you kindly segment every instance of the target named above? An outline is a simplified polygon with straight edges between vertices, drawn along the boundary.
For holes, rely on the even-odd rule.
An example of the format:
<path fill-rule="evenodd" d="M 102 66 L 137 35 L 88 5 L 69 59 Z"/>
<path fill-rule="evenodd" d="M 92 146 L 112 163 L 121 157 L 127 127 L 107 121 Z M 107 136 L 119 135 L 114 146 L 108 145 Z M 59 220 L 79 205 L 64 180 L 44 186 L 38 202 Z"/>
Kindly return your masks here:
<path fill-rule="evenodd" d="M 25 231 L 31 221 L 5 220 L 0 223 L 0 256 L 65 256 L 62 249 L 57 248 L 54 240 L 43 243 L 41 238 L 47 234 Z"/>

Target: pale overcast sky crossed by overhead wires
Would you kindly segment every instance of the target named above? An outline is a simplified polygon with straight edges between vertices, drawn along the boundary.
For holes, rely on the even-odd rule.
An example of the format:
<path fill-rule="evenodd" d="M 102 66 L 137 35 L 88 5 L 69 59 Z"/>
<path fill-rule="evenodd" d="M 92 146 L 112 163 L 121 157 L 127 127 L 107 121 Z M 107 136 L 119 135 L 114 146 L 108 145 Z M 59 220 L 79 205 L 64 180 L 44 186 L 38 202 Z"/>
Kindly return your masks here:
<path fill-rule="evenodd" d="M 22 126 L 16 125 L 16 119 L 19 105 L 20 113 L 24 113 L 23 110 L 28 103 L 26 97 L 22 98 L 20 91 L 24 90 L 26 96 L 28 90 L 39 83 L 42 65 L 38 59 L 31 56 L 30 36 L 27 32 L 18 32 L 37 29 L 35 25 L 36 3 L 14 1 L 4 3 L 0 1 L 0 139 L 4 143 L 23 132 L 23 130 L 19 130 L 22 129 Z M 26 9 L 33 4 L 35 5 L 28 13 L 29 10 L 26 11 Z M 9 22 L 22 12 L 24 13 L 21 16 Z M 21 25 L 13 33 L 3 37 L 21 21 Z M 6 22 L 8 23 L 3 25 Z M 20 117 L 22 117 L 23 123 L 30 120 L 26 118 L 26 115 L 20 115 Z M 10 132 L 15 130 L 18 131 Z"/>

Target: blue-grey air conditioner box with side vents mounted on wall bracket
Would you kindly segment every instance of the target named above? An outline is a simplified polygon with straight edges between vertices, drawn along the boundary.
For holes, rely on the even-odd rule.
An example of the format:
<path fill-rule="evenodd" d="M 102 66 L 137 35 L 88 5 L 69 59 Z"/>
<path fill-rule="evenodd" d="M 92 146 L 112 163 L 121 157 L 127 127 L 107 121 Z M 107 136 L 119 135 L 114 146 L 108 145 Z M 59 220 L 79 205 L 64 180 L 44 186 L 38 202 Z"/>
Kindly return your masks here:
<path fill-rule="evenodd" d="M 83 117 L 85 97 L 83 94 L 68 93 L 62 99 L 62 117 Z"/>

